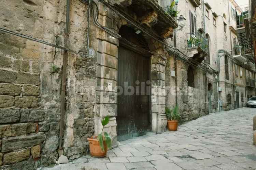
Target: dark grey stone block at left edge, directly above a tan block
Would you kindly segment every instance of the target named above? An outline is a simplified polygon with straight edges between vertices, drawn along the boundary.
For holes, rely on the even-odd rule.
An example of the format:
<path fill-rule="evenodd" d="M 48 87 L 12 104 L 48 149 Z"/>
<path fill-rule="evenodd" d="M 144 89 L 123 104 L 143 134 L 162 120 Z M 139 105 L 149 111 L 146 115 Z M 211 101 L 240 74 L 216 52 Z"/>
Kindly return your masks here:
<path fill-rule="evenodd" d="M 19 109 L 0 109 L 0 123 L 14 123 L 20 118 Z"/>

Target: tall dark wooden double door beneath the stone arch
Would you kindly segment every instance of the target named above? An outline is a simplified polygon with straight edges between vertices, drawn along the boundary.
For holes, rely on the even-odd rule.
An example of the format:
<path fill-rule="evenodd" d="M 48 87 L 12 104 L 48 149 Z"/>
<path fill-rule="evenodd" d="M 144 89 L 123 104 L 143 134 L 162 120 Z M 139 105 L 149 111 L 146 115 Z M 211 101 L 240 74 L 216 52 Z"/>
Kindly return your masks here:
<path fill-rule="evenodd" d="M 118 48 L 117 140 L 145 134 L 149 128 L 150 58 L 126 47 Z"/>

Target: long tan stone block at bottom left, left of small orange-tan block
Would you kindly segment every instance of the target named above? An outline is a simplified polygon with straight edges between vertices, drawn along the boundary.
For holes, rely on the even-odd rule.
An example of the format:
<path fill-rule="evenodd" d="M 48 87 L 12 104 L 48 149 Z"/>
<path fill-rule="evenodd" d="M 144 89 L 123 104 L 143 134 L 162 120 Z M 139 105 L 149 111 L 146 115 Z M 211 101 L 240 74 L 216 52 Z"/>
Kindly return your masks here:
<path fill-rule="evenodd" d="M 3 155 L 3 165 L 20 162 L 28 159 L 30 156 L 30 149 L 24 149 L 18 152 L 10 152 Z"/>

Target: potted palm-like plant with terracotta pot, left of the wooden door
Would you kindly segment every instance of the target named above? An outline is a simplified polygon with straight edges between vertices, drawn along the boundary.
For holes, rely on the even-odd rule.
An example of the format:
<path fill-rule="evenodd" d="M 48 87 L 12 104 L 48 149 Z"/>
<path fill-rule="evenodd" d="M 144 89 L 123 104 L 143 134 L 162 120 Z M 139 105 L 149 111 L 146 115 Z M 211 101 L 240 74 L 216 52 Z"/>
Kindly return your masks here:
<path fill-rule="evenodd" d="M 102 131 L 98 136 L 92 136 L 87 138 L 90 146 L 90 154 L 93 157 L 105 157 L 108 151 L 108 148 L 111 147 L 111 137 L 107 132 L 103 132 L 104 126 L 109 123 L 109 116 L 106 116 L 101 120 Z"/>

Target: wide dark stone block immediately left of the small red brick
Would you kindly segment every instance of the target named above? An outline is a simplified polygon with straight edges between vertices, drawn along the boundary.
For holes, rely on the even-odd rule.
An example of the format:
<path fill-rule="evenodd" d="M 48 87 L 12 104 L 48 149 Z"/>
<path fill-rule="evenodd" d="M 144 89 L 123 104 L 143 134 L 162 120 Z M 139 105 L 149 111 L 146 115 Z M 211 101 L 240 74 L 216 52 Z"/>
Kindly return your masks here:
<path fill-rule="evenodd" d="M 35 133 L 36 123 L 17 123 L 12 124 L 12 136 L 26 135 Z"/>

